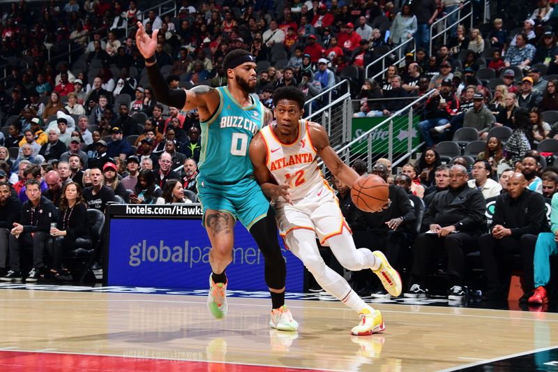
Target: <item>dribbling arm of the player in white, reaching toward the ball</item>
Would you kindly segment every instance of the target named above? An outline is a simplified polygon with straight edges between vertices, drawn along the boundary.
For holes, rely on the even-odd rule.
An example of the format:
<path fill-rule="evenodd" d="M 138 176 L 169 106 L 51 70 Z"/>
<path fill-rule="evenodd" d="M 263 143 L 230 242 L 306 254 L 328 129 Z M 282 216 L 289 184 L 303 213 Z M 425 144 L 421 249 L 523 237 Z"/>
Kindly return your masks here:
<path fill-rule="evenodd" d="M 359 178 L 359 174 L 345 164 L 333 151 L 329 144 L 329 138 L 323 126 L 316 123 L 308 123 L 308 135 L 316 148 L 317 155 L 322 158 L 325 165 L 335 178 L 340 179 L 347 185 L 353 185 Z"/>

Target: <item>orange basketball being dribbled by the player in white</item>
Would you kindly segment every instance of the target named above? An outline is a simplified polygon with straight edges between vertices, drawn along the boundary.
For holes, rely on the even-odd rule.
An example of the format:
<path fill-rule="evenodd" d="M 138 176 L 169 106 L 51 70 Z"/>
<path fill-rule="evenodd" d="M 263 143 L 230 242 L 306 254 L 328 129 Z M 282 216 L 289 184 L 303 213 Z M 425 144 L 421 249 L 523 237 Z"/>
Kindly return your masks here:
<path fill-rule="evenodd" d="M 376 174 L 359 177 L 351 189 L 351 199 L 361 211 L 378 211 L 388 202 L 389 185 Z"/>

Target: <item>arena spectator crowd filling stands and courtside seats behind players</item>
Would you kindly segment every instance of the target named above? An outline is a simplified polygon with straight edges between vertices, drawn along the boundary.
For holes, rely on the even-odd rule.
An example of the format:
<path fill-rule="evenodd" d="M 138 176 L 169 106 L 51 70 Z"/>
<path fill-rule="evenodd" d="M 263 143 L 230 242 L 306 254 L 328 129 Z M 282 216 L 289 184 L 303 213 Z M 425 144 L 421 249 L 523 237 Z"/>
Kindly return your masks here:
<path fill-rule="evenodd" d="M 483 297 L 503 299 L 519 265 L 520 302 L 548 302 L 558 229 L 558 145 L 548 141 L 558 141 L 558 6 L 497 1 L 484 22 L 482 1 L 176 0 L 170 13 L 156 5 L 2 4 L 1 280 L 72 280 L 63 253 L 92 244 L 87 209 L 197 201 L 199 117 L 156 101 L 135 47 L 139 21 L 148 34 L 160 30 L 157 64 L 174 89 L 225 85 L 225 54 L 242 48 L 257 61 L 255 94 L 271 109 L 278 87 L 299 87 L 310 99 L 345 79 L 354 117 L 388 117 L 428 94 L 418 110 L 425 149 L 416 162 L 399 174 L 386 159 L 370 170 L 361 160 L 352 164 L 391 184 L 386 210 L 359 211 L 349 186 L 331 180 L 355 241 L 381 242 L 369 248 L 383 249 L 405 276 L 406 297 L 427 295 L 431 274 L 442 270 L 446 279 L 432 287 L 445 286 L 449 299 L 461 301 L 479 265 Z M 448 14 L 456 22 L 452 12 L 464 7 L 474 27 L 449 27 L 432 40 L 431 53 L 430 25 Z M 408 48 L 389 53 L 409 39 Z M 385 71 L 369 66 L 385 54 Z M 484 141 L 482 151 L 444 156 L 438 144 L 464 131 Z M 492 221 L 487 205 L 495 205 Z M 22 273 L 24 248 L 33 252 L 29 274 Z M 359 294 L 388 296 L 368 274 L 353 276 Z"/>

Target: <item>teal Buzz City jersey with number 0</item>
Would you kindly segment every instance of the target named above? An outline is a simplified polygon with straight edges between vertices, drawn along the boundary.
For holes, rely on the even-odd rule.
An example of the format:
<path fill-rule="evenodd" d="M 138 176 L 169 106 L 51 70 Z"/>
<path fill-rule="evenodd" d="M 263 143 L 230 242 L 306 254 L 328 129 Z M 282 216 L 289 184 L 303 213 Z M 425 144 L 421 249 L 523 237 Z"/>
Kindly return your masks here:
<path fill-rule="evenodd" d="M 209 121 L 202 121 L 199 175 L 215 183 L 233 183 L 253 172 L 248 146 L 264 124 L 262 103 L 242 107 L 227 87 L 216 88 L 220 104 Z"/>

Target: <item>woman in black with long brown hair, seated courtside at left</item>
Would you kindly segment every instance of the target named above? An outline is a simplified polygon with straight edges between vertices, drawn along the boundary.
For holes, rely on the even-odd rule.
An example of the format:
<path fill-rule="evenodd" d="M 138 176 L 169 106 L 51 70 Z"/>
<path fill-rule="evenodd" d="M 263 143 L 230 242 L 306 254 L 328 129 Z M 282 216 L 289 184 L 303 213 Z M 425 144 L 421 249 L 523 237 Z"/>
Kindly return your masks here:
<path fill-rule="evenodd" d="M 62 268 L 64 252 L 77 246 L 91 247 L 93 244 L 87 224 L 87 207 L 80 185 L 70 182 L 64 186 L 59 209 L 56 228 L 50 229 L 50 235 L 54 238 L 51 274 L 56 280 L 71 281 L 70 272 Z"/>

